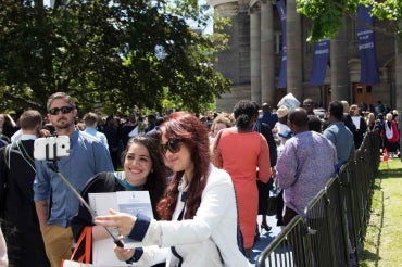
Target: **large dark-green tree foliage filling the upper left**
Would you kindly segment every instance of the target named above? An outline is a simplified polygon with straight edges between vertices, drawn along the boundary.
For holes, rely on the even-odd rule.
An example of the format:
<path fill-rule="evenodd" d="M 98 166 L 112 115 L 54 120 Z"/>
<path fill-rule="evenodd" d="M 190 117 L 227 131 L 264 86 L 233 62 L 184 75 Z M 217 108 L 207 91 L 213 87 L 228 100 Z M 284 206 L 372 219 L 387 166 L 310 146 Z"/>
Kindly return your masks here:
<path fill-rule="evenodd" d="M 63 4 L 66 2 L 65 4 Z M 134 106 L 162 111 L 163 100 L 200 112 L 230 82 L 215 68 L 205 7 L 197 1 L 3 0 L 0 8 L 1 110 L 45 110 L 66 91 L 83 112 Z"/>

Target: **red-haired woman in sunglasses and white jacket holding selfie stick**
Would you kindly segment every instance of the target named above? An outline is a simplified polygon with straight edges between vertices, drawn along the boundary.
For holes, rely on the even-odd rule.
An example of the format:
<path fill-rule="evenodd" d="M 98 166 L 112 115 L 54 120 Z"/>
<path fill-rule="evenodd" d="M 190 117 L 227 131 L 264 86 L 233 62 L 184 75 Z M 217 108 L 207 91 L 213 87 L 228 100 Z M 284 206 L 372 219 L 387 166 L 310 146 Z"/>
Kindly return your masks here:
<path fill-rule="evenodd" d="M 143 250 L 115 247 L 121 260 L 150 266 L 251 266 L 237 244 L 237 208 L 229 175 L 210 163 L 208 129 L 196 116 L 172 113 L 160 127 L 173 178 L 158 204 L 160 221 L 111 211 L 97 225 L 116 227 Z M 255 224 L 255 221 L 254 221 Z"/>

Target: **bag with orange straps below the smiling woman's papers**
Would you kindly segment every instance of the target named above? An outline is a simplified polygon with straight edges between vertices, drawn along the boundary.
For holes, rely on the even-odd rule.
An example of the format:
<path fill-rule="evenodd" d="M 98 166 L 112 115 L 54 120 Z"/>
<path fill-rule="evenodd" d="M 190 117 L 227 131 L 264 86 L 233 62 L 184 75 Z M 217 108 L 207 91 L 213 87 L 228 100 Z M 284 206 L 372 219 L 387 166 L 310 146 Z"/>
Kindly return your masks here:
<path fill-rule="evenodd" d="M 84 253 L 78 258 L 76 258 L 76 254 L 79 247 L 83 245 L 85 240 Z M 84 227 L 77 243 L 75 244 L 72 257 L 70 260 L 65 259 L 62 262 L 62 267 L 87 267 L 92 266 L 91 263 L 91 252 L 92 252 L 92 227 L 86 226 Z M 76 258 L 76 260 L 74 260 Z"/>

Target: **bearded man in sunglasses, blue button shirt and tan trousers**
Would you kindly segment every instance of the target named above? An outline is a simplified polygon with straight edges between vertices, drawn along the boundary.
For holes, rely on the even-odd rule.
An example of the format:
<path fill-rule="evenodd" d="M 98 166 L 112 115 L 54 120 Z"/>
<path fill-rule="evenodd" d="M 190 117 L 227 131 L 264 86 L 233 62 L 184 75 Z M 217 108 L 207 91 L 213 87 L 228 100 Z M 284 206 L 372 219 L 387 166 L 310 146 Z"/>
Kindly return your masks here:
<path fill-rule="evenodd" d="M 106 148 L 102 142 L 74 124 L 77 109 L 74 99 L 55 92 L 47 102 L 48 118 L 59 136 L 70 137 L 70 155 L 59 158 L 60 174 L 80 192 L 93 175 L 114 171 Z M 78 211 L 79 201 L 63 182 L 58 173 L 49 167 L 49 161 L 35 161 L 36 177 L 34 200 L 43 237 L 46 252 L 52 267 L 60 266 L 62 259 L 70 259 L 73 232 L 70 224 Z"/>

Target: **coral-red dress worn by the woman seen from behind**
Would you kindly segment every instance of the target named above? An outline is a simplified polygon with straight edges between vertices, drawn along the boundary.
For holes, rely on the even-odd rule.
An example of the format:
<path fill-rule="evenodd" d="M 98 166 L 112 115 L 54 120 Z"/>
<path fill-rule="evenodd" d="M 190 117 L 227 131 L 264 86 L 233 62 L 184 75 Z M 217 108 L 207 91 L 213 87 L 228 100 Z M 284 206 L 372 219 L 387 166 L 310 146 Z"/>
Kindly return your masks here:
<path fill-rule="evenodd" d="M 214 164 L 229 173 L 234 181 L 244 249 L 251 249 L 259 212 L 256 179 L 267 182 L 271 177 L 268 144 L 256 131 L 240 134 L 229 128 L 222 132 L 214 153 Z"/>

